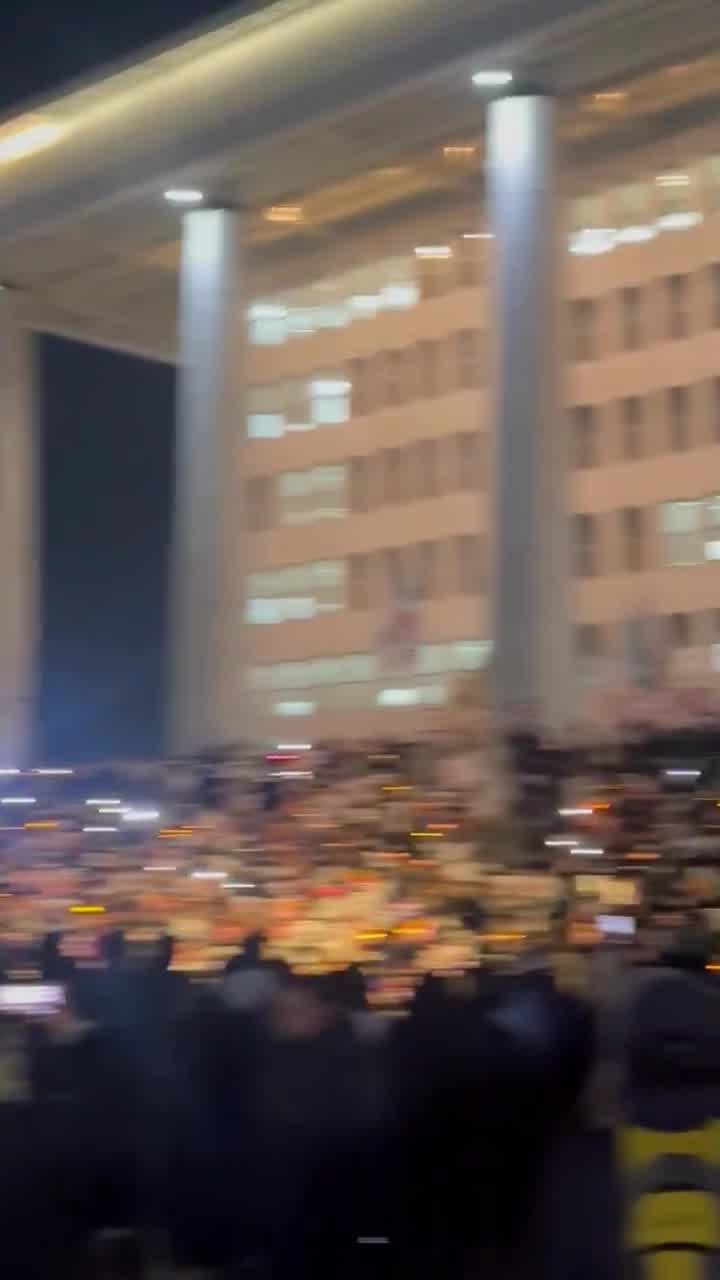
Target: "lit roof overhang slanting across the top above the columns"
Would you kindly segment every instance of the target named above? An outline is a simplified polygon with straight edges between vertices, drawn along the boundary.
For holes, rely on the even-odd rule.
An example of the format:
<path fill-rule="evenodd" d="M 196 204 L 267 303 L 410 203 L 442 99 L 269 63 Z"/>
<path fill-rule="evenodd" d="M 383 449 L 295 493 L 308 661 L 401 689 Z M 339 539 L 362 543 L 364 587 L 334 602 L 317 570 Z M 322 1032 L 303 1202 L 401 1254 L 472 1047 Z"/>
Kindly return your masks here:
<path fill-rule="evenodd" d="M 10 133 L 40 122 L 51 141 L 3 164 L 0 131 L 0 276 L 32 293 L 33 324 L 85 337 L 82 310 L 63 307 L 56 288 L 68 275 L 91 274 L 100 298 L 104 273 L 132 260 L 174 289 L 168 186 L 247 207 L 258 246 L 297 238 L 263 209 L 299 193 L 328 205 L 331 188 L 479 133 L 478 68 L 511 67 L 574 101 L 714 45 L 717 0 L 277 0 L 9 122 Z M 389 205 L 389 177 L 384 188 Z M 99 324 L 97 305 L 87 338 L 127 347 L 124 320 Z M 160 311 L 169 316 L 167 298 Z M 173 340 L 137 349 L 170 356 Z"/>

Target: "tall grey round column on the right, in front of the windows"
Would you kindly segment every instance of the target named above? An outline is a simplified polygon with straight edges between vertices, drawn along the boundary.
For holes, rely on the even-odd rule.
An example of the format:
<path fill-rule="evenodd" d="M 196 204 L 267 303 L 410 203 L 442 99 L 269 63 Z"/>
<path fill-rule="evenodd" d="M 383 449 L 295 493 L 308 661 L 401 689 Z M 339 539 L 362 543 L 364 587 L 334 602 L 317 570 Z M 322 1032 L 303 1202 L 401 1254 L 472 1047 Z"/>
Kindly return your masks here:
<path fill-rule="evenodd" d="M 560 227 L 555 104 L 491 104 L 488 187 L 496 237 L 495 641 L 510 718 L 562 731 L 571 709 L 568 449 L 560 398 Z"/>

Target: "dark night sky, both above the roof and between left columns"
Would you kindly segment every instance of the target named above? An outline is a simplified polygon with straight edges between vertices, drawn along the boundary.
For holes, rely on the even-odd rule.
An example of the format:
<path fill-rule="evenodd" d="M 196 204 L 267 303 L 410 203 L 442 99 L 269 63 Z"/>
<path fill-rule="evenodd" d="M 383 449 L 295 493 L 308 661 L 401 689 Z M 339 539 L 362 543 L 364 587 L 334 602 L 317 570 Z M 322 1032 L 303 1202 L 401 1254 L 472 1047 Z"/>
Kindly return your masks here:
<path fill-rule="evenodd" d="M 10 0 L 0 109 L 54 93 L 227 0 Z M 163 746 L 174 372 L 36 339 L 44 460 L 38 754 L 108 759 Z"/>

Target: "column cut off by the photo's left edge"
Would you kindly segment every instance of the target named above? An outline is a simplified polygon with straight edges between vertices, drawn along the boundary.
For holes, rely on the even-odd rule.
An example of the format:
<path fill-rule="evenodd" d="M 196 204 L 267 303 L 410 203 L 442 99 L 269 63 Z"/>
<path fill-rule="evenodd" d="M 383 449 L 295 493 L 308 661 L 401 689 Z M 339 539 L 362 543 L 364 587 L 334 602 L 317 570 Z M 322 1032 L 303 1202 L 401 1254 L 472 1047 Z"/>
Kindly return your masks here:
<path fill-rule="evenodd" d="M 36 444 L 32 338 L 0 288 L 0 767 L 28 763 L 36 660 Z"/>

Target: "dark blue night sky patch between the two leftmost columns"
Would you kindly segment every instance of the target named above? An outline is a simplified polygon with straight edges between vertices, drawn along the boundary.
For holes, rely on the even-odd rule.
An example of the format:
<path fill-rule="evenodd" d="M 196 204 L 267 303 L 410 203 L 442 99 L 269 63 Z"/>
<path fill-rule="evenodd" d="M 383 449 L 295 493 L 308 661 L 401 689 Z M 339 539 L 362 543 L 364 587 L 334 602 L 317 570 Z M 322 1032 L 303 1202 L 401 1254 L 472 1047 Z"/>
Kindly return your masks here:
<path fill-rule="evenodd" d="M 174 370 L 37 343 L 45 488 L 38 751 L 163 748 Z"/>

